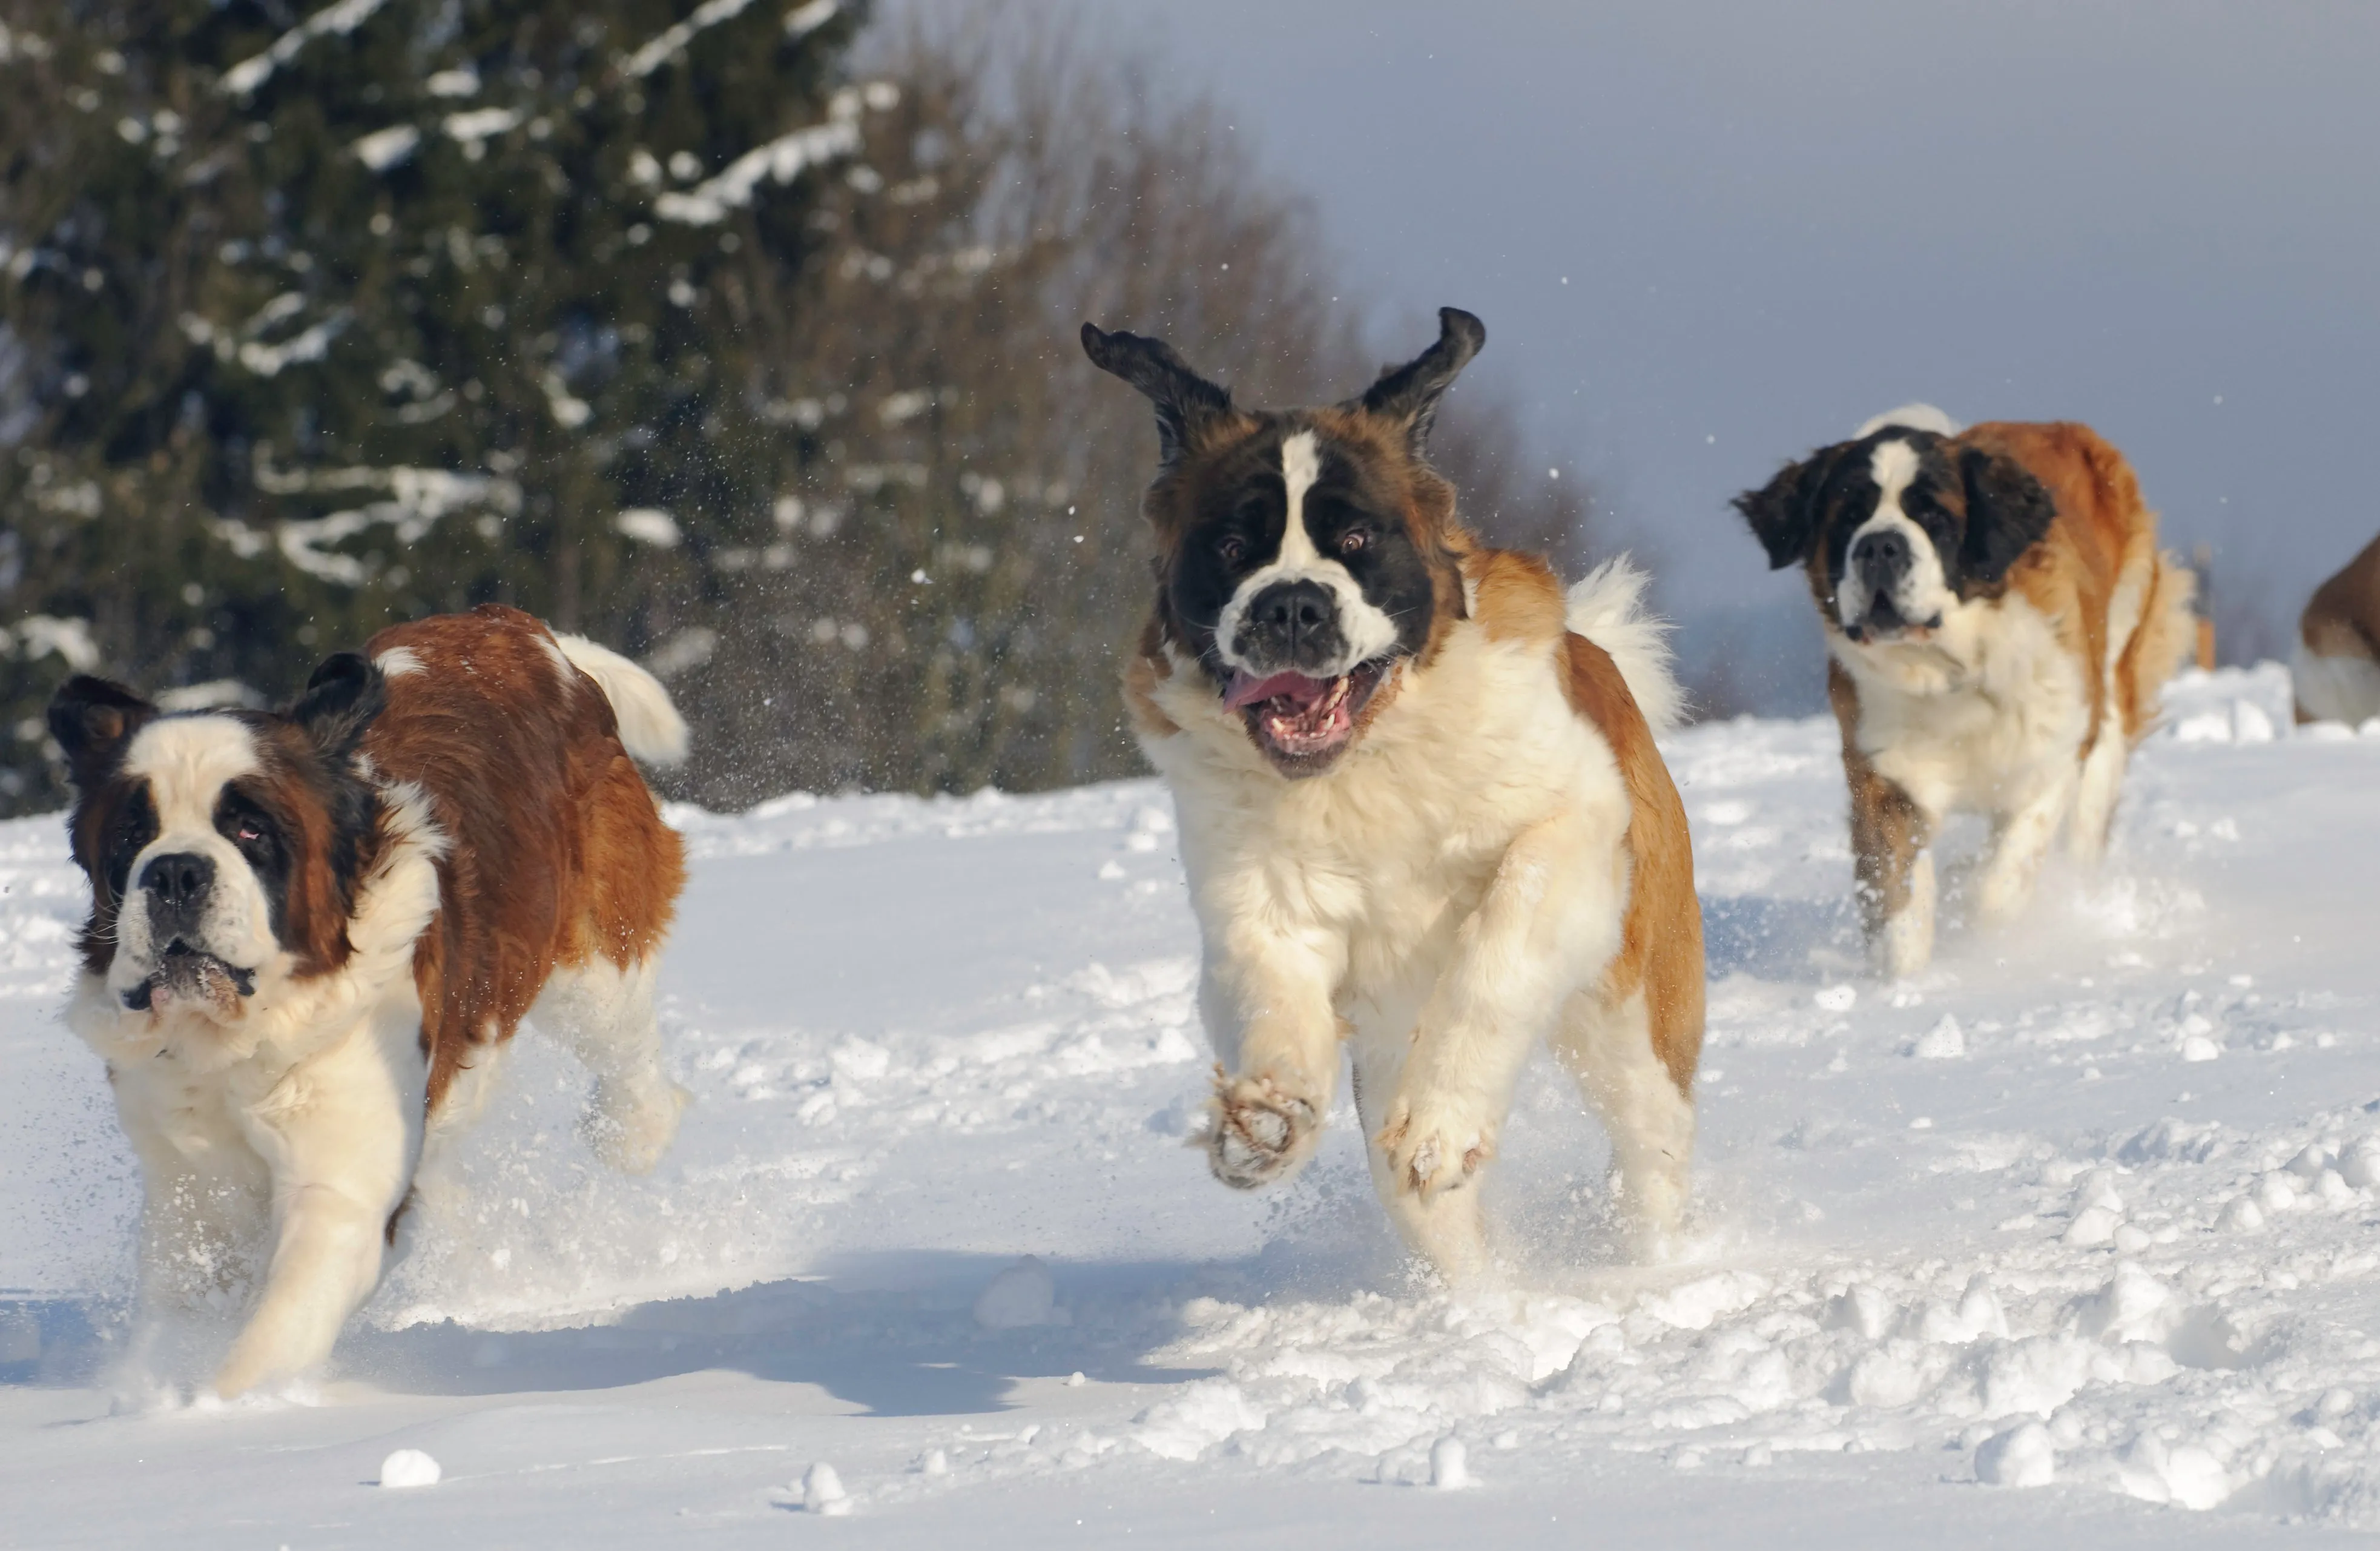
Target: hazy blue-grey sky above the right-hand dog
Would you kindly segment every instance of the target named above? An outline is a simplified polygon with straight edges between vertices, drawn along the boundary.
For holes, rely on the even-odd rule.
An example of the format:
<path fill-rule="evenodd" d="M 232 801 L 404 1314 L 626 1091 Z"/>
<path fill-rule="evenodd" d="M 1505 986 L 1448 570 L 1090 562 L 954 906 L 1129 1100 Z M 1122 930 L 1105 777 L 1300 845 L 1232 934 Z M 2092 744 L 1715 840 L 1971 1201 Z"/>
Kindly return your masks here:
<path fill-rule="evenodd" d="M 2271 641 L 2380 531 L 2370 0 L 1104 10 L 1319 203 L 1383 322 L 1488 322 L 1473 372 L 1704 639 L 1806 610 L 1728 496 L 1911 398 L 2094 424 Z"/>

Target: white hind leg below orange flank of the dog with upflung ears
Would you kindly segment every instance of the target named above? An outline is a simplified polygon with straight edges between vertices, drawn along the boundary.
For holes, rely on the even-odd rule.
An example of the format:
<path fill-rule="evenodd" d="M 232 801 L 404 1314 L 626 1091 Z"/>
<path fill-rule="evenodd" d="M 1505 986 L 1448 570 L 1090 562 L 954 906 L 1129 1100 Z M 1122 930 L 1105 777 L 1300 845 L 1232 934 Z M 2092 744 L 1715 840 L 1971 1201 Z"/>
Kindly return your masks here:
<path fill-rule="evenodd" d="M 1654 1053 L 1645 993 L 1611 1003 L 1580 991 L 1552 1044 L 1611 1134 L 1611 1177 L 1635 1256 L 1666 1258 L 1685 1220 L 1695 1101 Z"/>

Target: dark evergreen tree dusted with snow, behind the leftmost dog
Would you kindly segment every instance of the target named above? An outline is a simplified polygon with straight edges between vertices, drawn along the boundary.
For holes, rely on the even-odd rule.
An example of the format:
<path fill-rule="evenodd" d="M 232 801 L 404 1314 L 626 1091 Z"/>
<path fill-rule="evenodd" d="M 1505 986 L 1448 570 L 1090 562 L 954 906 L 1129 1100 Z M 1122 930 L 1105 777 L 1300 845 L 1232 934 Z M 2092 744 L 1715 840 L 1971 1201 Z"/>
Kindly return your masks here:
<path fill-rule="evenodd" d="M 0 805 L 69 667 L 286 693 L 481 600 L 685 662 L 819 455 L 776 362 L 897 102 L 838 0 L 50 0 L 7 19 Z M 712 600 L 716 603 L 716 600 Z"/>

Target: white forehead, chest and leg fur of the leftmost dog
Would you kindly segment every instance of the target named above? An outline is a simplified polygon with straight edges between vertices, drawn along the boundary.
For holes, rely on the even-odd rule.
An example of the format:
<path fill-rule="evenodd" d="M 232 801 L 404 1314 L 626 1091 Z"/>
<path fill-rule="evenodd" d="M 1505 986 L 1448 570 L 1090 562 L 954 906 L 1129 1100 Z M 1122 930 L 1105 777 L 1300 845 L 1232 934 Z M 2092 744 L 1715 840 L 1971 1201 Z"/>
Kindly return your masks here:
<path fill-rule="evenodd" d="M 188 836 L 188 815 L 212 812 L 205 779 L 219 777 L 219 791 L 245 772 L 224 727 L 245 736 L 224 717 L 174 720 L 143 729 L 129 750 L 126 765 L 159 791 L 159 817 L 174 815 L 167 834 Z M 378 779 L 369 765 L 364 774 Z M 293 958 L 271 946 L 233 1022 L 186 1005 L 133 1013 L 112 979 L 90 974 L 67 1010 L 107 1063 L 140 1158 L 136 1363 L 169 1348 L 193 1310 L 248 1306 L 214 1370 L 221 1396 L 290 1379 L 331 1353 L 378 1282 L 383 1234 L 421 1165 L 426 1129 L 445 1134 L 476 1113 L 495 1070 L 490 1048 L 438 1115 L 424 1115 L 414 943 L 438 912 L 447 839 L 419 786 L 378 779 L 378 789 L 388 846 L 364 879 L 347 927 L 352 955 L 336 974 L 298 979 Z M 245 862 L 226 877 L 255 889 Z M 659 1070 L 652 965 L 559 972 L 536 1017 L 595 1072 L 588 1132 L 597 1153 L 652 1167 L 685 1103 Z"/>

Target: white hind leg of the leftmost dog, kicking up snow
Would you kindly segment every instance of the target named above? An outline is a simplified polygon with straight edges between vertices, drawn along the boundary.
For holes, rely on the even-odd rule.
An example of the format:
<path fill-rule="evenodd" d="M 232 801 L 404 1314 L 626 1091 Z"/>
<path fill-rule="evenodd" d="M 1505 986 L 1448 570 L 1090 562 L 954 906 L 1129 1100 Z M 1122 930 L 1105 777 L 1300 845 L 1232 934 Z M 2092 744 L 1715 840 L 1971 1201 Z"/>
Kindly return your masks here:
<path fill-rule="evenodd" d="M 693 1101 L 662 1067 L 652 982 L 652 958 L 626 967 L 593 958 L 555 970 L 528 1010 L 533 1024 L 595 1075 L 581 1134 L 597 1158 L 628 1175 L 662 1160 Z"/>

